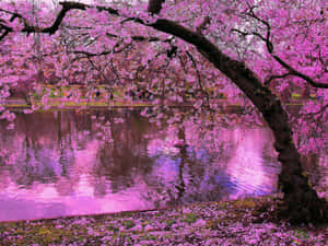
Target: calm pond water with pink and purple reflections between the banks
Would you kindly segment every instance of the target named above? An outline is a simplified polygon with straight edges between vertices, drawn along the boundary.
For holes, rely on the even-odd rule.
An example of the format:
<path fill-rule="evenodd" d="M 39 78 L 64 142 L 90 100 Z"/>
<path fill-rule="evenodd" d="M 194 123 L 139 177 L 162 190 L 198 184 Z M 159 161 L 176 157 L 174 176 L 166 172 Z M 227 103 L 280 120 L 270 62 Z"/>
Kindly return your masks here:
<path fill-rule="evenodd" d="M 8 131 L 0 122 L 0 221 L 277 190 L 280 166 L 267 128 L 222 127 L 203 136 L 192 124 L 159 128 L 127 110 L 17 114 L 15 124 Z M 326 157 L 312 156 L 307 166 L 315 185 L 327 179 Z"/>

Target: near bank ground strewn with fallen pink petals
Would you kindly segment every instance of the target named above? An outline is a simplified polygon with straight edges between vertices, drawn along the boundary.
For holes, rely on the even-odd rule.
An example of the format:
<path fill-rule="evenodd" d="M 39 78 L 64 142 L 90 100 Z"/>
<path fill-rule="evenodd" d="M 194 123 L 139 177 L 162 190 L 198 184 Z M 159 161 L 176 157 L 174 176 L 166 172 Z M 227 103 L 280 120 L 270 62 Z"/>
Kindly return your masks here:
<path fill-rule="evenodd" d="M 327 245 L 328 225 L 268 222 L 270 197 L 0 223 L 0 245 Z M 83 206 L 83 204 L 81 204 Z M 256 215 L 255 215 L 256 214 Z M 255 223 L 255 221 L 262 221 Z"/>

